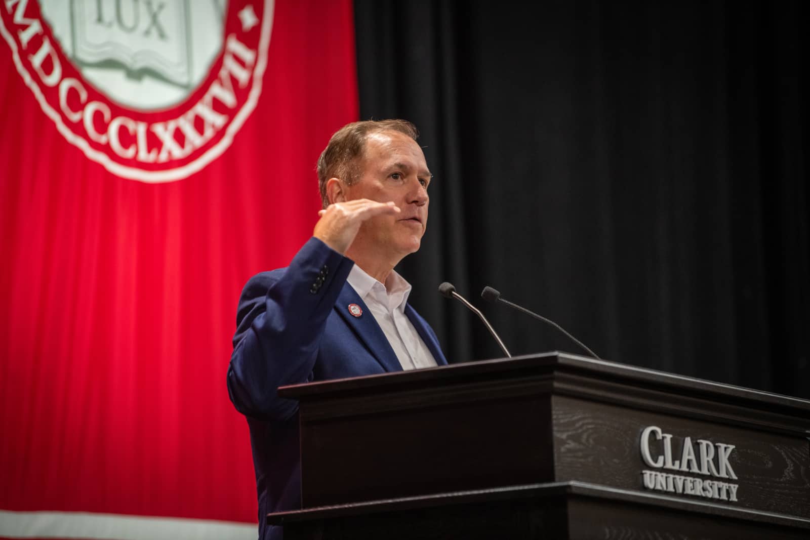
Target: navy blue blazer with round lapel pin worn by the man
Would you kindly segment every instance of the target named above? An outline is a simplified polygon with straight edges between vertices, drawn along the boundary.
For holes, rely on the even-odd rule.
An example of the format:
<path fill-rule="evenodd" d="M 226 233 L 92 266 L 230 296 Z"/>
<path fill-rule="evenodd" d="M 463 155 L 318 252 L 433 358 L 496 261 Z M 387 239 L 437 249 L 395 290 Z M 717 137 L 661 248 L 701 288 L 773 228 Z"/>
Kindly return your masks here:
<path fill-rule="evenodd" d="M 249 279 L 237 309 L 228 395 L 248 420 L 258 491 L 259 537 L 279 540 L 268 512 L 301 508 L 298 402 L 276 389 L 402 371 L 386 335 L 346 281 L 354 262 L 310 238 L 290 266 Z M 349 304 L 363 313 L 354 317 Z M 436 334 L 410 304 L 405 314 L 437 364 L 447 360 Z"/>

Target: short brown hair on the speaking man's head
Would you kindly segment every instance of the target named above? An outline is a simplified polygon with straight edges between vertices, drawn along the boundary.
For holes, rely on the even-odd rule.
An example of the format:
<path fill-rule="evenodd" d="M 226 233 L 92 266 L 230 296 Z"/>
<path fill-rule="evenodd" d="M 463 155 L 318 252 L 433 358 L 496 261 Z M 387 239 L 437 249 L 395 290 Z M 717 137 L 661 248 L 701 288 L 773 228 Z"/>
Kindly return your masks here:
<path fill-rule="evenodd" d="M 326 181 L 339 178 L 352 185 L 360 180 L 358 161 L 365 151 L 369 134 L 380 131 L 399 131 L 416 141 L 419 131 L 407 120 L 364 120 L 352 122 L 337 130 L 318 158 L 318 188 L 321 190 L 323 207 L 329 206 Z"/>

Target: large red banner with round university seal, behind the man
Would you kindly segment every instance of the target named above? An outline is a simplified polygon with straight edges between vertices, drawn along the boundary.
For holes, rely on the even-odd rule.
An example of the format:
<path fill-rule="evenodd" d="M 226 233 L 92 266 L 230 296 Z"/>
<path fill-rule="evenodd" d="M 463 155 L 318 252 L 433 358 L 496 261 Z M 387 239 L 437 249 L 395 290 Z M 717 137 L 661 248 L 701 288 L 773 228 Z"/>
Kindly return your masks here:
<path fill-rule="evenodd" d="M 236 302 L 311 234 L 318 153 L 357 117 L 351 2 L 0 11 L 0 536 L 255 523 Z"/>

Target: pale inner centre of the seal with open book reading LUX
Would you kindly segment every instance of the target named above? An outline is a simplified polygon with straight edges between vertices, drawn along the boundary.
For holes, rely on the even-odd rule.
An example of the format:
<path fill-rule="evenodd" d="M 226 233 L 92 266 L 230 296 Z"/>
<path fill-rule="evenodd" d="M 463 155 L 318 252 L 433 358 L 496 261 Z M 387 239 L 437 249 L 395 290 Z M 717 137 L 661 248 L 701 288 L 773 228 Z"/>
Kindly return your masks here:
<path fill-rule="evenodd" d="M 41 0 L 83 76 L 114 100 L 153 110 L 183 100 L 223 44 L 225 0 Z"/>

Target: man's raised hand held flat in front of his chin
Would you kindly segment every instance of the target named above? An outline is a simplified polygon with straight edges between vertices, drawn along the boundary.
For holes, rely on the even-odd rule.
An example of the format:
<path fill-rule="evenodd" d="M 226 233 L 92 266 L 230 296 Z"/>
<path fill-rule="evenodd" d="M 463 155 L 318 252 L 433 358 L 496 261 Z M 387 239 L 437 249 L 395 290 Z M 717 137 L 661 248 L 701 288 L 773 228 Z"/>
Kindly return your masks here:
<path fill-rule="evenodd" d="M 315 223 L 313 236 L 321 240 L 338 253 L 345 254 L 352 245 L 360 225 L 375 215 L 398 213 L 399 206 L 394 202 L 376 202 L 369 199 L 355 199 L 346 202 L 335 202 L 319 210 L 318 223 Z"/>

